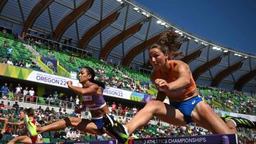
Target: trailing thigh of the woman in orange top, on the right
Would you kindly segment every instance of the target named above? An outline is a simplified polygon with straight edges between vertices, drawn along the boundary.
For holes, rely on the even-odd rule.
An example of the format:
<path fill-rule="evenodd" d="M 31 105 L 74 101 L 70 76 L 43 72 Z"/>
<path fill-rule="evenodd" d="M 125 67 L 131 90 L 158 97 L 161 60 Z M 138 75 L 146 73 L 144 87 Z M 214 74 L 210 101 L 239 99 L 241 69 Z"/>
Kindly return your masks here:
<path fill-rule="evenodd" d="M 224 121 L 204 101 L 200 101 L 191 113 L 193 121 L 214 134 L 233 133 Z"/>

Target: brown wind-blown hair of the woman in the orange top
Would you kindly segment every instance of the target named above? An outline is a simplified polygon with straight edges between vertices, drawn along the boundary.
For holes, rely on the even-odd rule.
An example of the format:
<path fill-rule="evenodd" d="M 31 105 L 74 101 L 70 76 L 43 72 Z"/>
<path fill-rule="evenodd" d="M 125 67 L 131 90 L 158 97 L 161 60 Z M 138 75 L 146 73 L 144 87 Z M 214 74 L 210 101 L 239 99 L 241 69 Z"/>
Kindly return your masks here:
<path fill-rule="evenodd" d="M 181 43 L 178 42 L 178 34 L 174 31 L 165 31 L 161 33 L 159 40 L 149 47 L 149 50 L 159 48 L 161 52 L 167 52 L 169 54 L 168 60 L 171 60 L 181 55 L 182 52 L 177 52 L 180 47 Z"/>

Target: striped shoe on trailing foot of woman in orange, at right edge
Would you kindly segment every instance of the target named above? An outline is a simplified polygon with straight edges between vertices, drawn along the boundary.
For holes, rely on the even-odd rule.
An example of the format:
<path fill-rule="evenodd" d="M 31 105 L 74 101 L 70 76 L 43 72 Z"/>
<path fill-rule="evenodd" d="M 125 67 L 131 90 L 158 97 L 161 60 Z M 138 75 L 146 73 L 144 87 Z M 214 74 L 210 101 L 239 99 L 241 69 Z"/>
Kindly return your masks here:
<path fill-rule="evenodd" d="M 233 121 L 237 127 L 255 128 L 255 123 L 244 117 L 226 116 L 224 121 Z"/>

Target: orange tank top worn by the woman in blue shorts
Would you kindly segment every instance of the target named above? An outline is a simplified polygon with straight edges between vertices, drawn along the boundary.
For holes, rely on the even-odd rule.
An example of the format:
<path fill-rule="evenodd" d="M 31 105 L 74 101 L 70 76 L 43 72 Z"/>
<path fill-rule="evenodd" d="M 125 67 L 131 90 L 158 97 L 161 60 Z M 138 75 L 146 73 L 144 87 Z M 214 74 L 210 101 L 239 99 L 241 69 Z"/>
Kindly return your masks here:
<path fill-rule="evenodd" d="M 174 82 L 178 77 L 174 74 L 174 60 L 169 60 L 171 71 L 170 71 L 170 77 L 169 79 L 165 79 L 167 83 Z M 156 79 L 164 79 L 161 77 L 160 70 L 156 70 Z M 173 91 L 167 91 L 165 92 L 168 97 L 188 97 L 192 96 L 194 92 L 196 92 L 196 83 L 193 80 L 192 74 L 190 79 L 191 84 L 189 84 L 188 87 L 185 87 L 183 89 L 176 89 Z M 161 89 L 160 89 L 161 90 Z"/>

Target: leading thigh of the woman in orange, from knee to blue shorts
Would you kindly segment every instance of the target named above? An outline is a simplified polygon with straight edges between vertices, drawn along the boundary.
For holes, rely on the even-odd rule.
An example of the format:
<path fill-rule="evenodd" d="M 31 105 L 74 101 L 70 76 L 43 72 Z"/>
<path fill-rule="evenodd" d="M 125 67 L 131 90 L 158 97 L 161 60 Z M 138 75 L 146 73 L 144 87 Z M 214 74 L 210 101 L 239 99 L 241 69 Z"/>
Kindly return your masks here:
<path fill-rule="evenodd" d="M 159 109 L 156 111 L 155 115 L 161 121 L 165 121 L 166 123 L 170 123 L 177 126 L 186 125 L 186 120 L 183 116 L 183 113 L 176 109 L 174 106 L 170 104 L 164 104 L 161 101 L 155 102 L 156 106 L 159 106 Z"/>

